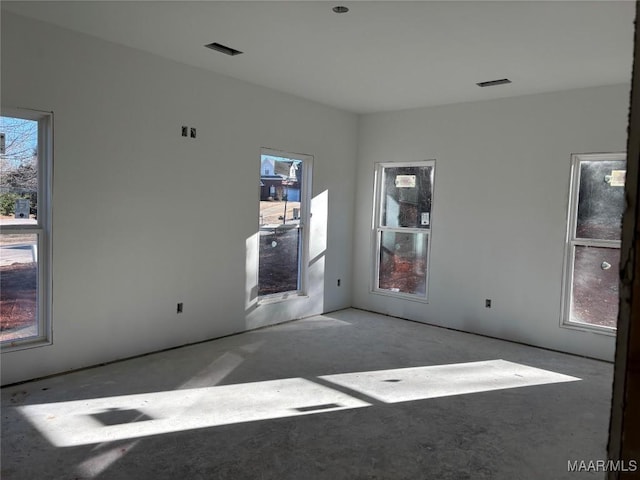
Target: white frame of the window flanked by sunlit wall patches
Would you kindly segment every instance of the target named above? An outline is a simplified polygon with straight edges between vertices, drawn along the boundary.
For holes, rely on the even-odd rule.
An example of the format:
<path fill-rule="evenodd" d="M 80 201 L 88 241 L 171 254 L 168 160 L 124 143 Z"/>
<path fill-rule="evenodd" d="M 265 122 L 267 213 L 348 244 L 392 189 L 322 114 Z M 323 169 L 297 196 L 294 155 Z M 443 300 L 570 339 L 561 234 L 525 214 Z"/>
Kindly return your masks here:
<path fill-rule="evenodd" d="M 271 293 L 269 295 L 258 295 L 258 304 L 267 304 L 292 300 L 295 298 L 308 296 L 309 291 L 309 231 L 311 221 L 311 195 L 313 192 L 313 156 L 304 153 L 292 153 L 283 150 L 275 150 L 263 147 L 260 149 L 260 159 L 262 155 L 300 160 L 302 162 L 302 186 L 300 188 L 300 223 L 301 230 L 300 245 L 298 247 L 298 288 L 287 292 Z M 262 171 L 262 169 L 260 169 Z M 274 172 L 275 174 L 275 172 Z M 260 223 L 258 221 L 258 223 Z M 255 284 L 259 285 L 260 274 L 260 235 L 257 235 L 257 261 Z"/>

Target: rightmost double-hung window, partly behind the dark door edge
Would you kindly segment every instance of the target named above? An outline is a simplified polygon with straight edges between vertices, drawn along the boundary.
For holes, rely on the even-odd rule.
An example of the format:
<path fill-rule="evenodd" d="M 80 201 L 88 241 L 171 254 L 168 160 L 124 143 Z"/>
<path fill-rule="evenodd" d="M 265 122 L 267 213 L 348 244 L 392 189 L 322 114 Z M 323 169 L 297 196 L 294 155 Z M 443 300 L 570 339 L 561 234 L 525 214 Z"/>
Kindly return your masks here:
<path fill-rule="evenodd" d="M 615 333 L 624 154 L 573 155 L 562 324 Z"/>

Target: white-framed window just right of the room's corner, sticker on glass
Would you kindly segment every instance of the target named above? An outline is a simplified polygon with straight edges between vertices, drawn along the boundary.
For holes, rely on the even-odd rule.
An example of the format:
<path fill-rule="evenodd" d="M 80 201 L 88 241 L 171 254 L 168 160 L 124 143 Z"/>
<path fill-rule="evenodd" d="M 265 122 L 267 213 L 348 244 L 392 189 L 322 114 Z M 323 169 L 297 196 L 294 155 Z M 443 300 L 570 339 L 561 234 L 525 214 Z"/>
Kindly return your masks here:
<path fill-rule="evenodd" d="M 435 161 L 376 167 L 373 290 L 427 300 Z"/>

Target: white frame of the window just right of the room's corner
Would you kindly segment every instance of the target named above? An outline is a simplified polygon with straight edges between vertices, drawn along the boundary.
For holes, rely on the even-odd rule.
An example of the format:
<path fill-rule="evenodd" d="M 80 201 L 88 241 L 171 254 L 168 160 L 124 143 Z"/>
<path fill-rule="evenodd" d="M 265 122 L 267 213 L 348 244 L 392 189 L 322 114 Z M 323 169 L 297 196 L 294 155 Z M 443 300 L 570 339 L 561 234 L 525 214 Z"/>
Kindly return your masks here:
<path fill-rule="evenodd" d="M 410 227 L 388 227 L 382 225 L 382 199 L 384 198 L 384 169 L 385 168 L 399 168 L 399 167 L 431 167 L 431 212 L 429 220 L 429 228 L 410 228 Z M 435 160 L 418 160 L 414 162 L 383 162 L 376 163 L 375 165 L 375 178 L 374 178 L 374 213 L 372 222 L 372 245 L 374 246 L 374 259 L 373 259 L 373 275 L 371 278 L 370 291 L 371 293 L 385 295 L 395 298 L 403 298 L 406 300 L 412 300 L 415 302 L 429 303 L 429 277 L 431 273 L 431 243 L 433 236 L 433 211 L 435 200 L 435 174 L 436 174 L 436 161 Z M 425 266 L 425 294 L 424 296 L 419 294 L 393 292 L 387 289 L 380 288 L 380 242 L 382 238 L 382 232 L 399 232 L 399 233 L 421 233 L 427 236 L 427 258 Z"/>

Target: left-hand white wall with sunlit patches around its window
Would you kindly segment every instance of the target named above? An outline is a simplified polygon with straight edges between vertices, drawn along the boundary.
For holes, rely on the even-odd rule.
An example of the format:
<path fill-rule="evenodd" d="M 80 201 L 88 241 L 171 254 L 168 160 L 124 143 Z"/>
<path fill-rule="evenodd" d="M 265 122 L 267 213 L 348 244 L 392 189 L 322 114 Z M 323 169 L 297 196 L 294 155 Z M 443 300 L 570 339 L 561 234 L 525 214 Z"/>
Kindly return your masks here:
<path fill-rule="evenodd" d="M 3 384 L 350 305 L 355 115 L 4 12 L 1 101 L 55 115 L 53 345 Z M 255 308 L 261 147 L 314 156 L 316 258 Z"/>

